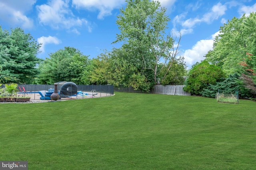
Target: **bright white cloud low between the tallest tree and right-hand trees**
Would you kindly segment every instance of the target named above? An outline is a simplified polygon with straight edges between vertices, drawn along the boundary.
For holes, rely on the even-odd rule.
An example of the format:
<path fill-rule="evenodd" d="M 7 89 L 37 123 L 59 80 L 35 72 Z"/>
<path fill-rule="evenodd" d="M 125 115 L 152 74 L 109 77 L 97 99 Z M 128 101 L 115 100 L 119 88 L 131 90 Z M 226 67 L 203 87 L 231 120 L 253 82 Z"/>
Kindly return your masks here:
<path fill-rule="evenodd" d="M 208 53 L 209 50 L 212 50 L 214 39 L 218 34 L 219 31 L 214 33 L 211 36 L 211 39 L 202 39 L 197 41 L 192 49 L 188 49 L 184 52 L 184 61 L 188 67 L 205 59 L 204 56 Z"/>

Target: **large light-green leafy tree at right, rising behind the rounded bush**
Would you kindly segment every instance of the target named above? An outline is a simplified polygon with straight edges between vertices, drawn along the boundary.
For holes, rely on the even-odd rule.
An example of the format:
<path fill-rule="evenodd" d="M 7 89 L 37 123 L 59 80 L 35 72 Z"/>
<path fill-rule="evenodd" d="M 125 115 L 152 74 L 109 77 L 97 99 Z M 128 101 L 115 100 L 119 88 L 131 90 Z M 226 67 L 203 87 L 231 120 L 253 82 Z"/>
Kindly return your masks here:
<path fill-rule="evenodd" d="M 241 18 L 234 17 L 220 27 L 220 34 L 214 40 L 213 50 L 206 55 L 211 64 L 221 66 L 227 74 L 243 72 L 239 64 L 252 49 L 256 38 L 256 13 Z"/>

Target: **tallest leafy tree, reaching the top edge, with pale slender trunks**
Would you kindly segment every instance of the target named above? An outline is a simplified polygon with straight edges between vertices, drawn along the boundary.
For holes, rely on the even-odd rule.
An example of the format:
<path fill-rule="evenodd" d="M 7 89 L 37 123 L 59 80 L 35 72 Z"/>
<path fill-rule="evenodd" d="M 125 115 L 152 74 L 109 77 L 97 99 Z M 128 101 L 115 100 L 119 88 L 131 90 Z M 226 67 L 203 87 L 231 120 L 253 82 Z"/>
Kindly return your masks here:
<path fill-rule="evenodd" d="M 158 74 L 168 64 L 168 69 L 162 80 L 177 59 L 178 47 L 174 45 L 176 35 L 166 33 L 167 23 L 170 18 L 166 15 L 166 8 L 161 8 L 159 1 L 151 0 L 126 0 L 126 8 L 120 9 L 120 15 L 116 23 L 120 34 L 116 41 L 123 42 L 122 46 L 130 51 L 127 57 L 123 57 L 128 63 L 134 63 L 141 75 L 145 75 L 147 81 L 157 83 Z M 180 42 L 181 35 L 178 39 Z M 160 62 L 163 62 L 159 68 Z"/>

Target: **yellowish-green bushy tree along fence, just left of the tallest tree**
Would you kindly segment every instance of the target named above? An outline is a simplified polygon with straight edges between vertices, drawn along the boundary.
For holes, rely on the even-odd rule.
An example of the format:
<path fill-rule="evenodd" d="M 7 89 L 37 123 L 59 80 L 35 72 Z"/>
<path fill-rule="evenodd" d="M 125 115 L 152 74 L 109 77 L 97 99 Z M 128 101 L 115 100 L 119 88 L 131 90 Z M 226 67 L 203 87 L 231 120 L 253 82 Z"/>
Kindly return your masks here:
<path fill-rule="evenodd" d="M 89 74 L 90 82 L 93 84 L 113 84 L 117 87 L 132 86 L 134 90 L 148 92 L 150 83 L 146 76 L 141 74 L 133 63 L 120 57 L 122 56 L 121 49 L 105 51 L 97 59 L 92 60 L 94 68 Z"/>

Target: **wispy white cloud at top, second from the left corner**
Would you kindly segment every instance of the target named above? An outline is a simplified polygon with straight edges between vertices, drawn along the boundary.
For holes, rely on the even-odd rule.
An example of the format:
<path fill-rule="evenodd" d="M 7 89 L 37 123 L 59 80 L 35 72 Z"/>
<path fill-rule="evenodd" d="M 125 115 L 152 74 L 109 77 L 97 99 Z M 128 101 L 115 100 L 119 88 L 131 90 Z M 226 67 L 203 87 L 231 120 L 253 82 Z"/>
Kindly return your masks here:
<path fill-rule="evenodd" d="M 82 25 L 86 25 L 89 29 L 90 24 L 88 21 L 79 17 L 76 18 L 70 10 L 68 3 L 69 0 L 51 0 L 49 4 L 36 6 L 39 12 L 38 19 L 40 23 L 49 25 L 54 29 L 71 29 L 77 26 L 81 27 Z"/>

